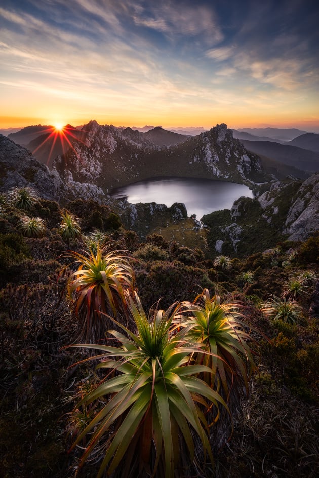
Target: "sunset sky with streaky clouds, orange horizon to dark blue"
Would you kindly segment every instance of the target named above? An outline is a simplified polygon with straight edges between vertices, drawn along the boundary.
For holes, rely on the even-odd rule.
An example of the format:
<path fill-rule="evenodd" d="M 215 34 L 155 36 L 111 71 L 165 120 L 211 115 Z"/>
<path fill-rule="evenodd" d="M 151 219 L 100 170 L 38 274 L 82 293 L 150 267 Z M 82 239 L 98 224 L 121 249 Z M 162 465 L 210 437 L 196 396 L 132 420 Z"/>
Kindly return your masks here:
<path fill-rule="evenodd" d="M 319 133 L 319 2 L 1 0 L 0 127 Z"/>

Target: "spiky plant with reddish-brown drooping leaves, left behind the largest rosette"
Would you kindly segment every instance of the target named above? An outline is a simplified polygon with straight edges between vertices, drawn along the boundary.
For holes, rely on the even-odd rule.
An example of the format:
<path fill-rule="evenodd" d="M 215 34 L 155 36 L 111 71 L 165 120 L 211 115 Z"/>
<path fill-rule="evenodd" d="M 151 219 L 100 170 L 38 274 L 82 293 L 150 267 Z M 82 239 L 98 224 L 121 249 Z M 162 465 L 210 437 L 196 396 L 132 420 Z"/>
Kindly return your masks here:
<path fill-rule="evenodd" d="M 105 338 L 106 331 L 113 326 L 110 317 L 128 322 L 124 291 L 134 290 L 133 270 L 129 257 L 119 251 L 107 252 L 97 245 L 97 252 L 86 254 L 72 252 L 68 257 L 79 264 L 78 270 L 69 278 L 69 299 L 75 303 L 79 320 L 79 337 L 82 343 L 97 343 Z M 103 315 L 101 315 L 101 312 Z"/>

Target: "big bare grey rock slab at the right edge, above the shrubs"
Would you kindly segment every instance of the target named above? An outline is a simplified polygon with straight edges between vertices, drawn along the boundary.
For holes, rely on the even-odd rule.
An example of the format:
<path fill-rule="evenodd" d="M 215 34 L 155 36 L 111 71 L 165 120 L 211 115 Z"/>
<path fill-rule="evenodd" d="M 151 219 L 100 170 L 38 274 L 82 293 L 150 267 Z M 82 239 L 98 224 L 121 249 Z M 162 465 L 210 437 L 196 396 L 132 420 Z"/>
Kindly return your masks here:
<path fill-rule="evenodd" d="M 303 241 L 319 229 L 319 172 L 300 186 L 285 222 L 284 234 L 292 241 Z"/>

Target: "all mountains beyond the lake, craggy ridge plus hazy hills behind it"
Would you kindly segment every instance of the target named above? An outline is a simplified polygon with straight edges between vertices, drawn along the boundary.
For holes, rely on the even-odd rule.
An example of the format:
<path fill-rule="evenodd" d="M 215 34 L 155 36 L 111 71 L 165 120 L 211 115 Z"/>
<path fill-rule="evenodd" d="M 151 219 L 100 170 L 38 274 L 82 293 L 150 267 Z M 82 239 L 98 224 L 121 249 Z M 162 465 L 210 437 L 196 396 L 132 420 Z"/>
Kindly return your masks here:
<path fill-rule="evenodd" d="M 263 181 L 268 174 L 278 179 L 288 175 L 305 179 L 319 169 L 319 154 L 315 150 L 319 135 L 314 133 L 302 134 L 284 143 L 243 130 L 229 130 L 224 124 L 210 131 L 199 128 L 202 132 L 196 136 L 161 126 L 145 125 L 142 129 L 145 132 L 137 128 L 101 126 L 91 121 L 81 130 L 67 125 L 63 134 L 51 125 L 36 125 L 10 133 L 8 137 L 26 146 L 50 168 L 55 164 L 63 177 L 70 172 L 74 181 L 92 182 L 107 189 L 150 177 L 174 175 L 237 182 Z M 268 131 L 281 137 L 301 132 L 289 129 L 283 133 L 282 129 L 275 128 L 250 130 Z M 216 131 L 217 137 L 212 141 Z"/>

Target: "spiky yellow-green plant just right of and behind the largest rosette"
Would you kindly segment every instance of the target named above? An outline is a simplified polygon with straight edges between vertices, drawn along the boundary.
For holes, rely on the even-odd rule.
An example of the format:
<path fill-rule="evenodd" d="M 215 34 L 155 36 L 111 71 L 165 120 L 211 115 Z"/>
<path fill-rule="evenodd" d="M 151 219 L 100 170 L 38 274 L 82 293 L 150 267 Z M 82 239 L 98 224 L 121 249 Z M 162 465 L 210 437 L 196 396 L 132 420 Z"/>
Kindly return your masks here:
<path fill-rule="evenodd" d="M 248 394 L 248 378 L 256 368 L 254 352 L 248 344 L 252 339 L 244 330 L 247 324 L 238 312 L 240 307 L 237 301 L 222 302 L 217 294 L 210 297 L 208 289 L 204 289 L 194 302 L 182 304 L 182 313 L 190 315 L 176 322 L 185 340 L 202 344 L 208 352 L 197 353 L 196 362 L 210 368 L 212 373 L 206 374 L 204 380 L 217 389 L 221 385 L 227 399 L 230 393 L 233 399 L 239 399 L 243 384 Z"/>

